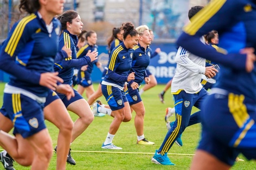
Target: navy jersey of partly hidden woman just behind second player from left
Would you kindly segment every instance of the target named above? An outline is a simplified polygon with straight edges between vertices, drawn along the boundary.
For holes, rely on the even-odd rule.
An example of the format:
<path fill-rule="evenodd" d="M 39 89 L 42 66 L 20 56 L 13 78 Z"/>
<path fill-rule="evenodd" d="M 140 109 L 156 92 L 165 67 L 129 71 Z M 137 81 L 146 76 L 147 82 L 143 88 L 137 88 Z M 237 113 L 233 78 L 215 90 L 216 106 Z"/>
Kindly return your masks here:
<path fill-rule="evenodd" d="M 83 46 L 82 48 L 79 49 L 79 51 L 76 53 L 77 58 L 81 58 L 82 56 L 86 56 L 86 54 L 88 53 L 88 51 L 98 51 L 98 46 L 97 45 L 92 45 L 90 46 L 89 44 Z M 92 73 L 93 72 L 93 65 L 96 65 L 98 60 L 94 60 L 93 62 L 89 62 L 88 67 L 86 72 L 88 73 Z"/>

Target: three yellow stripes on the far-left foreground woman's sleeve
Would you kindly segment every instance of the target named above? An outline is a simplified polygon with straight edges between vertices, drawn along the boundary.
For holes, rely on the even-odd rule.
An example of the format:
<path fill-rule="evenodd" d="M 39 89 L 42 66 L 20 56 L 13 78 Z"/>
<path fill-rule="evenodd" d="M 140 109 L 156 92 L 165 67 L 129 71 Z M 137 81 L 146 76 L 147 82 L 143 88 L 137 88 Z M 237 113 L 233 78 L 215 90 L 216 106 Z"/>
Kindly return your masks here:
<path fill-rule="evenodd" d="M 31 14 L 25 18 L 23 18 L 18 24 L 17 27 L 15 28 L 13 34 L 10 37 L 10 40 L 7 44 L 7 46 L 4 49 L 4 52 L 9 54 L 10 56 L 13 56 L 15 49 L 17 47 L 17 44 L 20 41 L 21 35 L 27 25 L 30 21 L 34 20 L 36 18 L 35 14 Z"/>

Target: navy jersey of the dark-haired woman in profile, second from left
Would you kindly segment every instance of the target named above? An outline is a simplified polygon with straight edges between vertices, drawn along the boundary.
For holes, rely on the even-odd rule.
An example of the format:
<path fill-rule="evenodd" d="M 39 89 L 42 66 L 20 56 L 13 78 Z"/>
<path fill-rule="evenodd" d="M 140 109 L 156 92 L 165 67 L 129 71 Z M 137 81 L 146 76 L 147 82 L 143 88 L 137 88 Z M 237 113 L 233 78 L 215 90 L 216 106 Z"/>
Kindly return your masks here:
<path fill-rule="evenodd" d="M 72 85 L 72 77 L 74 74 L 74 67 L 81 67 L 90 63 L 89 56 L 83 56 L 76 59 L 76 45 L 78 39 L 76 35 L 72 35 L 68 30 L 64 30 L 59 38 L 59 48 L 67 45 L 71 49 L 72 55 L 60 62 L 54 64 L 54 70 L 59 72 L 59 77 L 64 80 L 64 84 Z"/>

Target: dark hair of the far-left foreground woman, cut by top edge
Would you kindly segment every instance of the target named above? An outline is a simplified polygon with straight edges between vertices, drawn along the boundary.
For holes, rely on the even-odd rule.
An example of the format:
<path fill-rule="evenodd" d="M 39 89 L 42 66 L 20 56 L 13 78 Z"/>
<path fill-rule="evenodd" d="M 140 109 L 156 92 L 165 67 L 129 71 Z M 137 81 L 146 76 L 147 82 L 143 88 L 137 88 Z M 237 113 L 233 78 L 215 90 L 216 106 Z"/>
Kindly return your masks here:
<path fill-rule="evenodd" d="M 35 11 L 38 11 L 40 9 L 41 5 L 39 1 L 33 1 L 33 0 L 21 0 L 19 9 L 21 12 L 26 11 L 29 14 L 32 14 Z"/>

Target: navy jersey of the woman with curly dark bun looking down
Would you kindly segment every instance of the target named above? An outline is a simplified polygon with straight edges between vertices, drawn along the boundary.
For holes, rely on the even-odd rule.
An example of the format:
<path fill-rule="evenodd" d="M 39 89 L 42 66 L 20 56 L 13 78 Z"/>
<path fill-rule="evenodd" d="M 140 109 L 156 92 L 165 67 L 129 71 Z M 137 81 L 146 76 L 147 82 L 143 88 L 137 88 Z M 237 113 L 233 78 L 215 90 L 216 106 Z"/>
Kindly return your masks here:
<path fill-rule="evenodd" d="M 124 87 L 131 69 L 133 52 L 134 50 L 127 49 L 123 42 L 115 47 L 109 56 L 108 71 L 103 81 Z"/>

